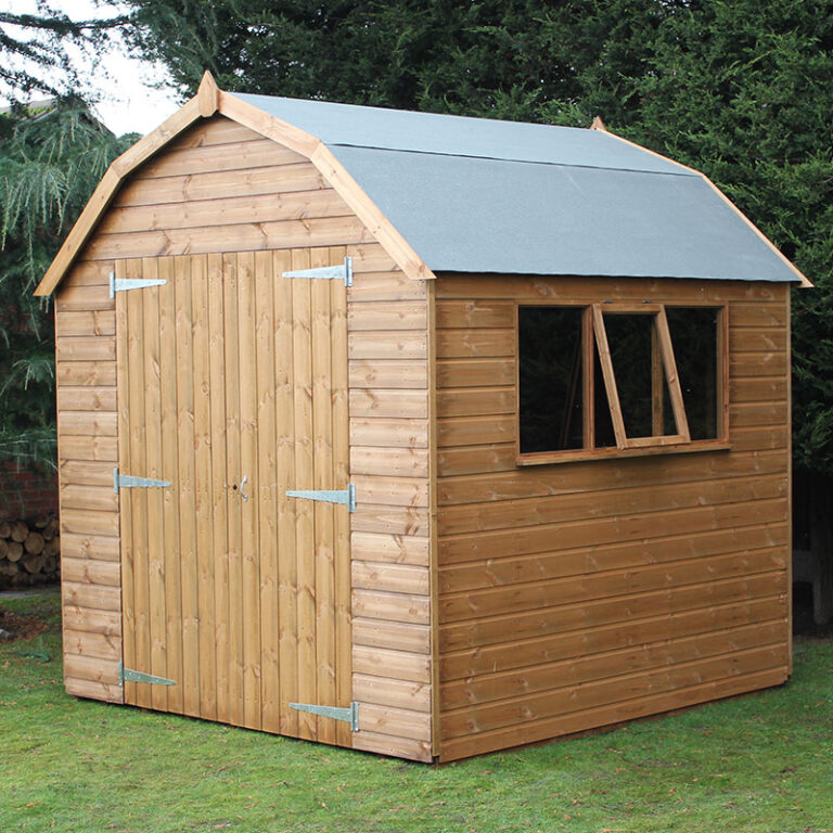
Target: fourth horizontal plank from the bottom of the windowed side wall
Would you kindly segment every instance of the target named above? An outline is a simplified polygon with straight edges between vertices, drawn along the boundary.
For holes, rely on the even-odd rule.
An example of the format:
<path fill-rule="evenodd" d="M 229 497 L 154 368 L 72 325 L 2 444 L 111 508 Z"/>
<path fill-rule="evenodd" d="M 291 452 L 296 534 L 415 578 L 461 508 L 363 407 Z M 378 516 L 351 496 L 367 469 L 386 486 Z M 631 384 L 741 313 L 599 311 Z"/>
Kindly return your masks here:
<path fill-rule="evenodd" d="M 514 638 L 489 645 L 467 648 L 440 657 L 439 676 L 444 681 L 464 680 L 489 674 L 528 668 L 562 659 L 592 656 L 642 645 L 656 639 L 694 637 L 713 630 L 744 627 L 768 620 L 787 626 L 786 599 L 767 597 L 700 608 L 669 611 L 659 616 L 650 612 L 644 617 L 629 618 L 627 624 L 614 621 L 601 627 L 579 627 L 531 639 Z"/>

